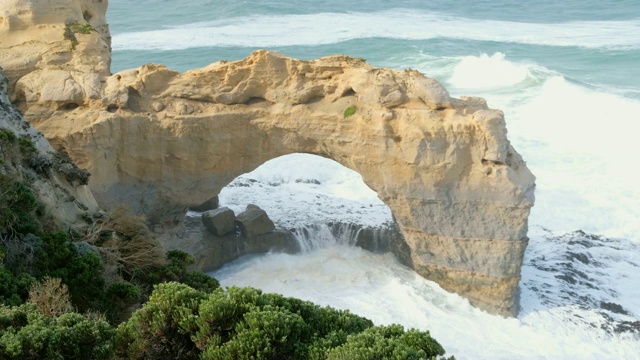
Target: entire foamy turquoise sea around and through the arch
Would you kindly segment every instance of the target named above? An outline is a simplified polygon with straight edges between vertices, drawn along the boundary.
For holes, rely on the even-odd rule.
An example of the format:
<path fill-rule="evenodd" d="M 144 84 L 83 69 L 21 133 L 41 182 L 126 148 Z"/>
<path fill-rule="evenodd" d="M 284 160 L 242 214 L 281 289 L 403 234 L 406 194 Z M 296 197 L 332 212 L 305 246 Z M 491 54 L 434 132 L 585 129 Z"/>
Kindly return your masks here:
<path fill-rule="evenodd" d="M 456 359 L 640 359 L 640 1 L 110 0 L 107 20 L 113 73 L 186 71 L 257 49 L 417 69 L 503 110 L 537 177 L 517 318 L 322 226 L 301 232 L 300 254 L 212 273 L 224 286 L 428 330 Z M 287 228 L 392 218 L 357 173 L 307 154 L 238 177 L 220 200 L 236 212 L 255 203 Z"/>

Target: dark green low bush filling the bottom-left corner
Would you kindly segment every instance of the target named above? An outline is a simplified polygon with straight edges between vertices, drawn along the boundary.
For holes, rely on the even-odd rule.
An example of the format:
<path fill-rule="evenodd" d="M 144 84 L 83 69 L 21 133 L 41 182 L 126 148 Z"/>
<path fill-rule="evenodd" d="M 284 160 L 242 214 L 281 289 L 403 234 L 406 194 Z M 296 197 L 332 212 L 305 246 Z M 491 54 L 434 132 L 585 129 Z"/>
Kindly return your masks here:
<path fill-rule="evenodd" d="M 48 317 L 34 304 L 0 306 L 2 359 L 112 359 L 114 330 L 77 313 Z"/>

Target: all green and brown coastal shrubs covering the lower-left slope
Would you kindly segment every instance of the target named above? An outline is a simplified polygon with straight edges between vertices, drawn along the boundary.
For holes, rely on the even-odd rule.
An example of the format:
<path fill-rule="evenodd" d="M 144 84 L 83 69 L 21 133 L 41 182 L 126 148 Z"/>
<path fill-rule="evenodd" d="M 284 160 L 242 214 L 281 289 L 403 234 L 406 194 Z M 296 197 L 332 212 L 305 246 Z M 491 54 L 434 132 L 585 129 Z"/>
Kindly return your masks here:
<path fill-rule="evenodd" d="M 126 208 L 59 224 L 39 198 L 53 172 L 89 173 L 0 129 L 0 358 L 437 359 L 429 332 L 253 288 L 222 289 L 164 253 Z"/>

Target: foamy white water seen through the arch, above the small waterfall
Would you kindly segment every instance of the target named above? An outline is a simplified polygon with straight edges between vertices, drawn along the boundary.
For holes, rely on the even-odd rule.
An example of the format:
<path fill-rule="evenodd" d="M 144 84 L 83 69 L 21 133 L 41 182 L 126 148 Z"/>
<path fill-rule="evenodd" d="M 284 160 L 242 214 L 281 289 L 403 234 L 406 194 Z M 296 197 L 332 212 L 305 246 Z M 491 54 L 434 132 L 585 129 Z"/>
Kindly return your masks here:
<path fill-rule="evenodd" d="M 222 189 L 220 203 L 236 213 L 258 205 L 285 228 L 317 222 L 379 226 L 392 220 L 358 173 L 308 154 L 276 158 L 238 177 Z"/>

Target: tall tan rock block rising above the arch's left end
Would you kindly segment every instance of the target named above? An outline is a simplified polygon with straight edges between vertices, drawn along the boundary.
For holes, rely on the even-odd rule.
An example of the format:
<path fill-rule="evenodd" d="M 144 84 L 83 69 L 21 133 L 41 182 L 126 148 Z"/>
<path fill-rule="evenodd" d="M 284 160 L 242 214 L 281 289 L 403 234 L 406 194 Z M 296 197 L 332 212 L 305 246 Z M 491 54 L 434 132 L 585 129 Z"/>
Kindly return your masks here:
<path fill-rule="evenodd" d="M 49 96 L 49 110 L 100 98 L 101 81 L 111 65 L 107 4 L 107 0 L 0 2 L 0 66 L 9 78 L 12 101 L 28 101 L 35 95 L 30 93 L 34 86 Z"/>

